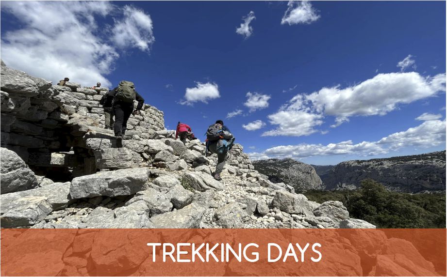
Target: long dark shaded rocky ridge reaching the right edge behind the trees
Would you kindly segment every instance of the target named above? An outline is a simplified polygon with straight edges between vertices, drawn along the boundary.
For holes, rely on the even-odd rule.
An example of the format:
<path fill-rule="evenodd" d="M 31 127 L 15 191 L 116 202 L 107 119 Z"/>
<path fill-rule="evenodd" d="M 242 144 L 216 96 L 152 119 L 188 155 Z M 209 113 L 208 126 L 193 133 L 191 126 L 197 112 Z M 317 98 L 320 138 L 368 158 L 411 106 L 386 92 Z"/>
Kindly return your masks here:
<path fill-rule="evenodd" d="M 446 151 L 346 161 L 321 175 L 328 190 L 355 189 L 367 178 L 394 191 L 443 191 L 446 189 Z"/>

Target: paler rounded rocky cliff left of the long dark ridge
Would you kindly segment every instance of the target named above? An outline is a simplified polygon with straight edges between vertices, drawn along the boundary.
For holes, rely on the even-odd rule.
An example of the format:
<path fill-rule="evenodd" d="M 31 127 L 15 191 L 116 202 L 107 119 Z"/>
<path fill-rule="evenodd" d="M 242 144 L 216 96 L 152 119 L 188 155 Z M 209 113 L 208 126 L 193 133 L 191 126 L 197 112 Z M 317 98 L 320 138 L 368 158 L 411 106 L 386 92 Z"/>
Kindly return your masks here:
<path fill-rule="evenodd" d="M 315 169 L 294 159 L 260 160 L 253 165 L 273 183 L 285 183 L 299 191 L 321 188 L 322 182 Z"/>

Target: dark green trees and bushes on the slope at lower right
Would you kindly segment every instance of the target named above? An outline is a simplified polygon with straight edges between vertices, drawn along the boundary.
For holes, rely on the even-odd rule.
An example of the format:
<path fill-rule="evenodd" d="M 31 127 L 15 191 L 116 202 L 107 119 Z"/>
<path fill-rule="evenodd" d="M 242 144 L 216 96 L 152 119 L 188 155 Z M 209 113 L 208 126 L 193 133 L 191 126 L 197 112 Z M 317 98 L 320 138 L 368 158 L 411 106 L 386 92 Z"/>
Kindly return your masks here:
<path fill-rule="evenodd" d="M 351 217 L 366 220 L 377 228 L 446 228 L 445 193 L 392 192 L 366 179 L 357 190 L 309 190 L 303 194 L 318 203 L 341 201 Z"/>

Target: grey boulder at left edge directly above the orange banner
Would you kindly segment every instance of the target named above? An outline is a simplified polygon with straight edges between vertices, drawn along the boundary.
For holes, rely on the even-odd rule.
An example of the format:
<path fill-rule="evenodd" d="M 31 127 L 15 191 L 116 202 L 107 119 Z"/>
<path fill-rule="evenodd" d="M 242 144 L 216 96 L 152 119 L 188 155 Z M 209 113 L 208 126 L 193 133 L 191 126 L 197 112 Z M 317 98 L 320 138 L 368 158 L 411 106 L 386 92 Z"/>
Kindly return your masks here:
<path fill-rule="evenodd" d="M 2 228 L 27 227 L 44 220 L 51 212 L 46 197 L 22 197 L 2 204 L 0 223 Z"/>

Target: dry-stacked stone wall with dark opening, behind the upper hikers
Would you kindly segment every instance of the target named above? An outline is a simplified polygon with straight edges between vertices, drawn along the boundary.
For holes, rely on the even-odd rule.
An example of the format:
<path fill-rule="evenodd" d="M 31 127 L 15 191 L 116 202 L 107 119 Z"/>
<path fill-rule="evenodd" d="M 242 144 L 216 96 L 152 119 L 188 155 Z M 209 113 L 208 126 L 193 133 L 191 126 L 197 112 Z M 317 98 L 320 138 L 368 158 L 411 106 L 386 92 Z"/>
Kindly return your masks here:
<path fill-rule="evenodd" d="M 113 139 L 113 132 L 103 129 L 104 112 L 99 105 L 108 88 L 66 85 L 52 85 L 1 62 L 0 144 L 16 152 L 36 173 L 57 181 L 95 173 L 95 154 L 86 139 L 95 134 Z M 131 116 L 127 128 L 129 136 L 143 139 L 166 134 L 163 112 L 148 104 Z"/>

